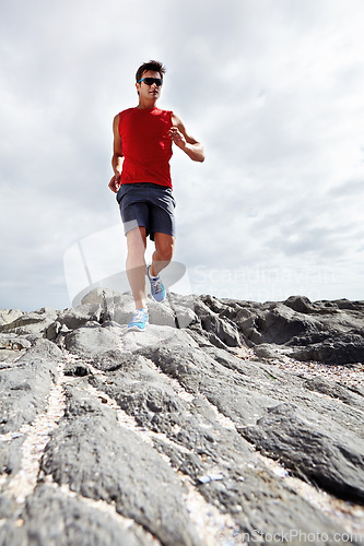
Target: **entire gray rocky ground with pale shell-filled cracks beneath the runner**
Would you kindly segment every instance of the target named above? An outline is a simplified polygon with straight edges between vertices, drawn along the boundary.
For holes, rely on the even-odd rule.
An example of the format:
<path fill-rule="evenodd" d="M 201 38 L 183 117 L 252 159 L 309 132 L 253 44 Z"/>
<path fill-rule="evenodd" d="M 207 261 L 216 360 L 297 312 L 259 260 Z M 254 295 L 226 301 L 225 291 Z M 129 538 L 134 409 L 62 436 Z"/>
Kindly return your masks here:
<path fill-rule="evenodd" d="M 0 311 L 0 545 L 364 544 L 364 302 Z"/>

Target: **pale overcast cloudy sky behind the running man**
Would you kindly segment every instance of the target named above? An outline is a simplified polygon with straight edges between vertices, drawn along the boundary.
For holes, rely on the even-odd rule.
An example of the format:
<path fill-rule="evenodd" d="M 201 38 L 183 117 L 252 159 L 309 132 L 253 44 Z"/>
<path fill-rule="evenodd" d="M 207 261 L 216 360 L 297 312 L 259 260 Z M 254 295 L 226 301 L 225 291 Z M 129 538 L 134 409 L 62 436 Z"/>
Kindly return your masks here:
<path fill-rule="evenodd" d="M 0 9 L 0 308 L 68 307 L 80 249 L 93 282 L 122 270 L 111 123 L 151 58 L 207 153 L 172 161 L 184 289 L 364 299 L 362 0 Z"/>

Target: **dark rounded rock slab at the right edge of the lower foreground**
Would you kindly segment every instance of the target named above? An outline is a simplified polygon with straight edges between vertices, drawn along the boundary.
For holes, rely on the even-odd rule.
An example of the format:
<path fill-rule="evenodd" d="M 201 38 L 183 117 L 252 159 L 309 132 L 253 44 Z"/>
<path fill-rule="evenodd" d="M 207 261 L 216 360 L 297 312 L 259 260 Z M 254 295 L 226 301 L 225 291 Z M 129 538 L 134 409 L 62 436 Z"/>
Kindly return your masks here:
<path fill-rule="evenodd" d="M 317 413 L 293 404 L 268 410 L 256 426 L 240 429 L 263 453 L 275 454 L 318 486 L 364 500 L 364 440 Z"/>

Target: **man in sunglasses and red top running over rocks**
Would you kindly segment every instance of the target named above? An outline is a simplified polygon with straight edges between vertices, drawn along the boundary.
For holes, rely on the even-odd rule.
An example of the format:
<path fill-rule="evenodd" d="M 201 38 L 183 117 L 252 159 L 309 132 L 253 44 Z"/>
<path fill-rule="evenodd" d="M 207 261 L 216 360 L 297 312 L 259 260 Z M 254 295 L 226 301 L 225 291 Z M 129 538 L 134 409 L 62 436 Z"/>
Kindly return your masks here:
<path fill-rule="evenodd" d="M 155 106 L 165 68 L 158 61 L 143 63 L 136 74 L 139 104 L 114 118 L 115 175 L 109 188 L 117 193 L 127 237 L 127 275 L 136 304 L 128 330 L 143 331 L 148 323 L 145 273 L 151 293 L 163 301 L 165 289 L 158 276 L 168 265 L 175 247 L 175 201 L 172 194 L 169 159 L 174 142 L 192 161 L 203 162 L 202 145 L 181 120 Z M 152 263 L 146 268 L 146 237 L 154 240 Z"/>

